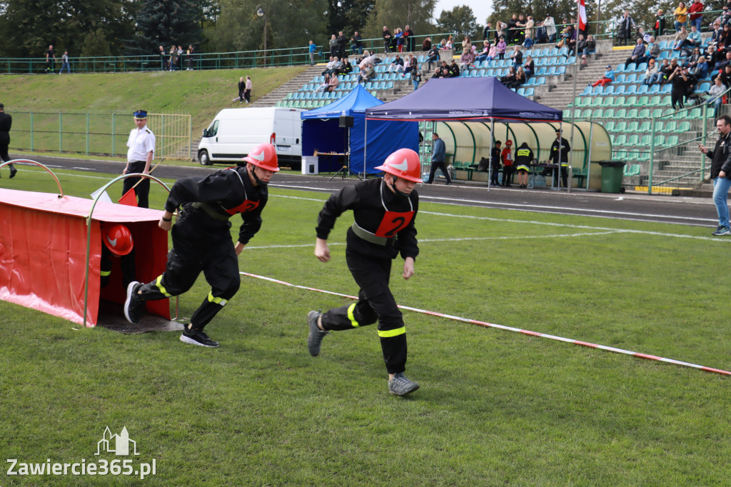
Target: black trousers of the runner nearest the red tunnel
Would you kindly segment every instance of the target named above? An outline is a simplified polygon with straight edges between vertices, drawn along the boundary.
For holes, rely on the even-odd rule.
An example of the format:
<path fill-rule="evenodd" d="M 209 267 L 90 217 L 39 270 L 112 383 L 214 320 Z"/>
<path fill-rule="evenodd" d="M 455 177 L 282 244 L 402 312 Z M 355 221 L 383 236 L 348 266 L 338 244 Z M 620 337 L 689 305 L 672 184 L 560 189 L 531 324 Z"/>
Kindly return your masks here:
<path fill-rule="evenodd" d="M 200 210 L 181 213 L 173 225 L 173 249 L 167 254 L 167 267 L 162 276 L 143 285 L 140 298 L 156 301 L 180 295 L 202 272 L 211 292 L 190 320 L 193 328 L 202 330 L 238 292 L 238 257 L 227 226 L 211 226 L 211 217 Z"/>

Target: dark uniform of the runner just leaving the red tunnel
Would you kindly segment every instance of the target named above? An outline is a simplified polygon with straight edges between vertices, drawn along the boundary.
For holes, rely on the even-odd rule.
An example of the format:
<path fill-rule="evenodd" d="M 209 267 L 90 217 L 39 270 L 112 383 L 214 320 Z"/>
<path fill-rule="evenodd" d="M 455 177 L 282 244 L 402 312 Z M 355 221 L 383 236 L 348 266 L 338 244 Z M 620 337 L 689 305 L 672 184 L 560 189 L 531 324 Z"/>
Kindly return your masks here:
<path fill-rule="evenodd" d="M 251 184 L 245 167 L 175 182 L 165 202 L 165 210 L 170 213 L 181 207 L 172 230 L 173 249 L 168 253 L 165 272 L 140 287 L 140 298 L 155 301 L 182 294 L 202 271 L 211 292 L 191 318 L 193 328 L 201 330 L 240 286 L 230 217 L 241 214 L 238 241 L 246 244 L 262 225 L 267 199 L 266 186 Z"/>

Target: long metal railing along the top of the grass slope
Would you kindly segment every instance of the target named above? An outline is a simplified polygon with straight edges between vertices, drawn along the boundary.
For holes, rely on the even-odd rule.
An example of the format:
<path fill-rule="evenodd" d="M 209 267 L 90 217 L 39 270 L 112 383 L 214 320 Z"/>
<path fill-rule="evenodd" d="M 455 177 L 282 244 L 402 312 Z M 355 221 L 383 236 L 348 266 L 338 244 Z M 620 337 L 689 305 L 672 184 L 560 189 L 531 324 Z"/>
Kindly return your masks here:
<path fill-rule="evenodd" d="M 414 50 L 420 51 L 423 40 L 431 37 L 435 44 L 441 37 L 454 36 L 453 32 L 425 34 L 414 36 Z M 368 50 L 371 53 L 384 52 L 384 42 L 381 38 L 361 40 L 361 52 Z M 318 50 L 317 61 L 327 61 L 330 53 L 329 46 L 322 46 Z M 353 54 L 350 42 L 346 46 L 346 53 Z M 249 69 L 257 67 L 279 67 L 309 64 L 308 46 L 296 48 L 280 48 L 267 50 L 242 50 L 227 53 L 194 53 L 188 56 L 183 53 L 180 61 L 173 67 L 174 71 L 186 69 Z M 44 58 L 0 58 L 1 74 L 44 74 L 47 73 L 47 63 Z M 159 54 L 146 56 L 90 56 L 69 58 L 71 72 L 139 72 L 162 71 L 170 69 L 170 53 L 164 56 Z M 61 69 L 60 58 L 53 64 L 53 72 Z M 64 71 L 65 73 L 65 71 Z"/>

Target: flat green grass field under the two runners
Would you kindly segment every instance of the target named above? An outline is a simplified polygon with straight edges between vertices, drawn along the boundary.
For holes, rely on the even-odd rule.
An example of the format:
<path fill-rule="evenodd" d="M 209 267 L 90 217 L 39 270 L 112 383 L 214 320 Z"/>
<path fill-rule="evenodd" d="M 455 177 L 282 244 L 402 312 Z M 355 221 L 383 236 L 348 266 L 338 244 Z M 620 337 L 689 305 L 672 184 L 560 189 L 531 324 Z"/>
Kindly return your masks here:
<path fill-rule="evenodd" d="M 78 196 L 109 179 L 59 178 Z M 55 192 L 35 170 L 0 186 Z M 164 191 L 151 196 L 162 207 Z M 326 197 L 270 189 L 241 271 L 357 293 L 342 244 L 349 214 L 330 263 L 313 255 Z M 731 369 L 730 243 L 707 228 L 423 202 L 417 229 L 416 275 L 401 279 L 401 259 L 393 268 L 402 305 Z M 199 279 L 183 314 L 207 292 Z M 731 377 L 404 312 L 406 373 L 421 388 L 398 398 L 374 327 L 330 333 L 308 355 L 306 313 L 347 302 L 242 277 L 206 328 L 214 350 L 172 332 L 78 330 L 0 302 L 0 456 L 96 462 L 109 426 L 137 442 L 135 464 L 156 461 L 142 481 L 11 476 L 6 463 L 0 485 L 729 483 Z"/>

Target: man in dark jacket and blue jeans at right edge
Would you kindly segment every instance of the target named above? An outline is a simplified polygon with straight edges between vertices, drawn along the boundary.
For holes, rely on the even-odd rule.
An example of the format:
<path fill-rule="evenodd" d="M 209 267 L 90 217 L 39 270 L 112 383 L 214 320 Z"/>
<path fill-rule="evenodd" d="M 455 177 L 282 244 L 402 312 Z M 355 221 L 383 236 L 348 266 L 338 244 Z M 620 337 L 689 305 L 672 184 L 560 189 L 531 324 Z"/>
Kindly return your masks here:
<path fill-rule="evenodd" d="M 698 144 L 700 151 L 711 159 L 711 178 L 713 179 L 713 204 L 719 215 L 719 227 L 713 235 L 731 235 L 729 226 L 729 206 L 727 203 L 731 188 L 731 117 L 724 115 L 716 120 L 719 139 L 713 151 Z"/>

